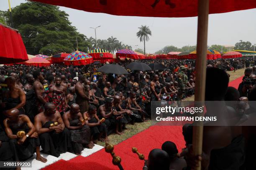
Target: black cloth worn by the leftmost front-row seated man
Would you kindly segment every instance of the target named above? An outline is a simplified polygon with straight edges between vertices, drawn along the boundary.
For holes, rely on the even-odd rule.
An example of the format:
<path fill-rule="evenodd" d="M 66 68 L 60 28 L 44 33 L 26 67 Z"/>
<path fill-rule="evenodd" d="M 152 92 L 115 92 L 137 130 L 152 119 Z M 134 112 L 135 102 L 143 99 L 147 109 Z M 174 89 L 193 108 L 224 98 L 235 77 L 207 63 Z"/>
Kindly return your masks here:
<path fill-rule="evenodd" d="M 28 133 L 30 130 L 25 123 L 19 125 L 18 123 L 10 127 L 13 134 L 16 134 L 18 131 L 25 131 L 25 133 Z M 13 159 L 14 161 L 24 161 L 28 158 L 31 158 L 33 156 L 33 153 L 36 152 L 36 147 L 40 145 L 38 138 L 26 138 L 25 142 L 22 145 L 18 145 L 17 141 L 19 139 L 10 139 L 10 148 L 13 153 Z"/>

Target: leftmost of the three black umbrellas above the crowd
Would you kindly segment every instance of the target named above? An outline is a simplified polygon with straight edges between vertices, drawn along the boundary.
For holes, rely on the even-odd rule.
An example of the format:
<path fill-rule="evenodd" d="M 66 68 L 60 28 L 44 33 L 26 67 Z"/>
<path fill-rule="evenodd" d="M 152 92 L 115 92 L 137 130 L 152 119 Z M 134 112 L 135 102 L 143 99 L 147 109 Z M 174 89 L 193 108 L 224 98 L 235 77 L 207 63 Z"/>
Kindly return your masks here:
<path fill-rule="evenodd" d="M 124 67 L 117 64 L 106 64 L 98 69 L 99 72 L 112 73 L 112 74 L 128 74 Z"/>

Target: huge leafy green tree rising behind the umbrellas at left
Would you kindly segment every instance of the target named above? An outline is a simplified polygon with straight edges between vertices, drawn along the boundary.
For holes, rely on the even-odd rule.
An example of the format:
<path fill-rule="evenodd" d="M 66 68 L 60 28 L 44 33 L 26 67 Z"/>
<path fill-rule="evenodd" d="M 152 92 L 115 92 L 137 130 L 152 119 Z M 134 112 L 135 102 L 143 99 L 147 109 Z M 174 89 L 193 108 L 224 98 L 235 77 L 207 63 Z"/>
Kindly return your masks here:
<path fill-rule="evenodd" d="M 57 6 L 28 1 L 14 7 L 12 14 L 13 27 L 19 30 L 28 54 L 69 53 L 76 50 L 77 43 L 81 51 L 92 46 L 87 37 L 71 25 L 69 15 Z M 10 26 L 7 11 L 5 17 Z"/>

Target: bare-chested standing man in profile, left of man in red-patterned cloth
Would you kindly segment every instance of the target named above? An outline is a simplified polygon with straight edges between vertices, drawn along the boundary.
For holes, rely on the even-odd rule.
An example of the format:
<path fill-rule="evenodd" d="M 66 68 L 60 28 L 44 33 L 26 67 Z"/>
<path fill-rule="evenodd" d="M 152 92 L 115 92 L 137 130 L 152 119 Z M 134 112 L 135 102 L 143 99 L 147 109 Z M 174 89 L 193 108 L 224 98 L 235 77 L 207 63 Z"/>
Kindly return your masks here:
<path fill-rule="evenodd" d="M 47 90 L 44 89 L 44 85 L 41 83 L 44 82 L 44 77 L 39 70 L 33 72 L 33 77 L 35 78 L 33 87 L 36 93 L 36 105 L 38 108 L 38 112 L 43 112 L 44 105 L 46 104 L 46 102 L 49 102 Z"/>

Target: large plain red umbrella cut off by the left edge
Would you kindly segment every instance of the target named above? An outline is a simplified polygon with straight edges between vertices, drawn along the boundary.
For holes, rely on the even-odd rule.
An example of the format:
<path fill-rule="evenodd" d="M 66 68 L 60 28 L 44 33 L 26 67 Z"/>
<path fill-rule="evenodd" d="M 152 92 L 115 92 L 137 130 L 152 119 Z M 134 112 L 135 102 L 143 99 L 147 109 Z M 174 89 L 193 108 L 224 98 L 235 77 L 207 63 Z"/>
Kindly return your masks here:
<path fill-rule="evenodd" d="M 28 60 L 27 51 L 18 30 L 0 24 L 0 37 L 0 64 Z"/>

